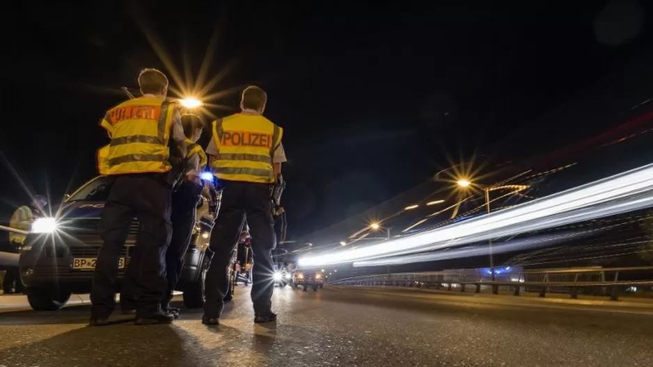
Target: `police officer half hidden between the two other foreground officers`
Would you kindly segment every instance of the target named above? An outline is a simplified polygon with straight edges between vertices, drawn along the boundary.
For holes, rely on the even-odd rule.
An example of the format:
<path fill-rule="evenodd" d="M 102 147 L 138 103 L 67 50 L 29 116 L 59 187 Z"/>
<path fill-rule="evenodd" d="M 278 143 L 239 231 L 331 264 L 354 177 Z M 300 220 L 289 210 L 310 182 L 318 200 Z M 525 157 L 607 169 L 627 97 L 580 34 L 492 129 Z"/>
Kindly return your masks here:
<path fill-rule="evenodd" d="M 161 299 L 161 309 L 164 312 L 171 313 L 175 318 L 179 316 L 179 309 L 170 307 L 170 301 L 173 297 L 173 291 L 182 274 L 184 268 L 184 256 L 193 233 L 193 227 L 196 222 L 197 205 L 200 194 L 203 191 L 201 172 L 206 168 L 207 158 L 204 149 L 197 144 L 204 122 L 198 115 L 182 115 L 182 126 L 184 127 L 184 143 L 187 150 L 186 161 L 186 179 L 182 181 L 180 187 L 172 195 L 172 238 L 168 251 L 166 251 L 166 278 L 168 287 Z M 138 263 L 141 261 L 139 251 L 134 251 L 130 262 Z M 136 309 L 136 300 L 134 300 L 136 284 L 138 283 L 139 267 L 129 266 L 123 291 L 120 293 L 120 308 L 123 313 L 132 313 Z M 125 312 L 129 310 L 128 312 Z"/>

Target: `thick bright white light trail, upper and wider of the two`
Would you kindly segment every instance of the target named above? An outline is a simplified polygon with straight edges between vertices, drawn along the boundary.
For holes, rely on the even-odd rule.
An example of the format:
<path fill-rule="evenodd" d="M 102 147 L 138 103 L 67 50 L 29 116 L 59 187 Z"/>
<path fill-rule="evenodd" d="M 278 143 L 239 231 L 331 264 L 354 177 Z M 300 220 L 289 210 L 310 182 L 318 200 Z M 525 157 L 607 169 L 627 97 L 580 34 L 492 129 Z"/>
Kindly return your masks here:
<path fill-rule="evenodd" d="M 608 204 L 606 204 L 608 203 Z M 599 205 L 606 204 L 606 205 Z M 510 209 L 378 245 L 300 259 L 300 266 L 353 263 L 557 227 L 653 206 L 653 165 L 617 174 Z M 583 209 L 583 210 L 581 210 Z"/>

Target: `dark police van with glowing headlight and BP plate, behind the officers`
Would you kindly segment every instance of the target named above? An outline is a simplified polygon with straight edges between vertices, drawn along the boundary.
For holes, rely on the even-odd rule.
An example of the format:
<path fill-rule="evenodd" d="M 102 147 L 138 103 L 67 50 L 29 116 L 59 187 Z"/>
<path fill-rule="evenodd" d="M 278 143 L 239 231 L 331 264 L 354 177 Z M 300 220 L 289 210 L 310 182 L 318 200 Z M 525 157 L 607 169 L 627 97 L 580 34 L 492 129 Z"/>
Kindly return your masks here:
<path fill-rule="evenodd" d="M 84 183 L 72 195 L 66 195 L 54 218 L 37 218 L 19 249 L 19 270 L 26 286 L 30 306 L 39 311 L 57 310 L 68 302 L 72 293 L 90 293 L 97 254 L 102 246 L 98 224 L 109 197 L 110 177 L 100 176 Z M 191 243 L 185 255 L 185 265 L 178 283 L 183 292 L 184 305 L 188 308 L 202 307 L 204 303 L 204 279 L 212 252 L 209 238 L 217 210 L 203 200 L 198 209 L 197 222 Z M 118 284 L 129 264 L 136 244 L 139 222 L 134 218 L 118 263 Z M 235 254 L 232 261 L 235 262 Z M 230 271 L 233 271 L 230 266 Z M 233 298 L 233 276 L 225 300 Z"/>

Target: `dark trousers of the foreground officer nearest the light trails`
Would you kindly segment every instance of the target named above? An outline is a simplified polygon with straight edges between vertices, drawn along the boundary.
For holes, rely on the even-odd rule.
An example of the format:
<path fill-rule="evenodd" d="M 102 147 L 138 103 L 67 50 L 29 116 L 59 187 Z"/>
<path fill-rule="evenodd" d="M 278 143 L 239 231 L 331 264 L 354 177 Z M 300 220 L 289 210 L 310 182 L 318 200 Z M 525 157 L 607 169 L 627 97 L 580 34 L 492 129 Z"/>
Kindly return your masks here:
<path fill-rule="evenodd" d="M 251 289 L 254 313 L 259 316 L 271 311 L 275 238 L 269 189 L 267 183 L 223 181 L 220 213 L 211 231 L 210 248 L 214 254 L 205 279 L 206 316 L 219 317 L 222 313 L 231 254 L 238 243 L 245 218 L 254 255 Z"/>

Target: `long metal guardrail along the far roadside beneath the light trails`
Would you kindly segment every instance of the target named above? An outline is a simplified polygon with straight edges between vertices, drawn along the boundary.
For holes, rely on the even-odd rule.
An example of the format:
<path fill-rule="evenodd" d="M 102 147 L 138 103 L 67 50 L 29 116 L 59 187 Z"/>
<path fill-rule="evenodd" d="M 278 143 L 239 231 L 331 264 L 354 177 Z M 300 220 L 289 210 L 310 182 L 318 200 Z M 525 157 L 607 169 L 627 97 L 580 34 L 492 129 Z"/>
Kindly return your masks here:
<path fill-rule="evenodd" d="M 620 280 L 620 273 L 647 272 L 652 274 L 643 279 Z M 333 285 L 359 285 L 359 286 L 415 286 L 417 288 L 460 288 L 466 291 L 467 286 L 475 287 L 475 292 L 480 293 L 483 287 L 490 287 L 492 293 L 498 294 L 501 288 L 510 289 L 512 294 L 519 295 L 522 291 L 538 292 L 540 297 L 546 293 L 570 293 L 573 299 L 579 296 L 579 290 L 590 288 L 599 289 L 592 295 L 609 295 L 610 300 L 619 299 L 620 287 L 653 286 L 653 266 L 638 266 L 630 268 L 565 268 L 546 270 L 523 270 L 518 274 L 510 275 L 509 280 L 483 280 L 470 279 L 478 275 L 477 269 L 444 270 L 439 272 L 403 272 L 393 274 L 362 275 L 338 279 L 329 284 Z M 598 294 L 597 294 L 598 293 Z"/>

